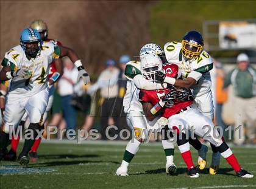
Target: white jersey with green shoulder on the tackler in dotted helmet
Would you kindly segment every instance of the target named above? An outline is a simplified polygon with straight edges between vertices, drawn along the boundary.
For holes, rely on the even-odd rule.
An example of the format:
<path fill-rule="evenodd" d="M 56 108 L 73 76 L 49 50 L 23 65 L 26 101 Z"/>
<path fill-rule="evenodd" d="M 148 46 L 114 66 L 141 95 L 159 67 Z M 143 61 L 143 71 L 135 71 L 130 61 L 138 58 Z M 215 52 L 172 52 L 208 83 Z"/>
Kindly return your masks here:
<path fill-rule="evenodd" d="M 133 78 L 141 74 L 141 66 L 139 61 L 129 61 L 126 64 L 126 70 L 124 75 L 128 79 L 126 84 L 126 94 L 124 95 L 124 112 L 128 113 L 130 111 L 140 111 L 143 112 L 142 105 L 138 100 L 138 94 L 140 90 L 133 83 Z"/>

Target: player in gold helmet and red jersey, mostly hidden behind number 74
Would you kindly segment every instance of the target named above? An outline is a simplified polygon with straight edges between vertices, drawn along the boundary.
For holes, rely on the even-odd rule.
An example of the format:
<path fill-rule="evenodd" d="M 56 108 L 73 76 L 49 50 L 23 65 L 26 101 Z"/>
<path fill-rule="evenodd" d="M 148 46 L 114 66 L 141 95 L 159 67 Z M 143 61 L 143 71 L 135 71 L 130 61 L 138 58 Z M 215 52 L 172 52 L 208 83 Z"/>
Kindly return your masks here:
<path fill-rule="evenodd" d="M 54 46 L 62 46 L 62 43 L 60 43 L 60 41 L 48 39 L 48 26 L 43 20 L 37 19 L 33 21 L 30 24 L 30 28 L 38 30 L 38 32 L 41 35 L 41 39 L 43 41 L 51 42 L 54 44 Z M 46 125 L 44 125 L 44 123 L 46 122 L 46 119 L 48 117 L 48 112 L 51 110 L 52 103 L 54 100 L 53 99 L 54 91 L 55 91 L 54 83 L 61 77 L 62 74 L 63 74 L 62 60 L 59 58 L 52 61 L 52 63 L 50 64 L 50 69 L 48 74 L 49 101 L 48 101 L 46 111 L 44 112 L 43 122 L 42 122 L 42 127 L 44 128 L 46 128 Z M 26 122 L 26 119 L 27 119 L 27 114 L 25 113 L 23 115 L 23 118 L 21 119 L 20 125 L 24 125 Z M 20 136 L 18 136 L 17 138 L 12 137 L 11 149 L 9 153 L 5 155 L 4 157 L 5 160 L 16 160 L 16 149 L 18 148 L 19 141 L 20 141 Z M 35 139 L 34 145 L 32 146 L 31 151 L 29 152 L 29 157 L 32 162 L 35 162 L 38 159 L 37 149 L 40 145 L 40 142 L 41 142 L 41 138 Z"/>

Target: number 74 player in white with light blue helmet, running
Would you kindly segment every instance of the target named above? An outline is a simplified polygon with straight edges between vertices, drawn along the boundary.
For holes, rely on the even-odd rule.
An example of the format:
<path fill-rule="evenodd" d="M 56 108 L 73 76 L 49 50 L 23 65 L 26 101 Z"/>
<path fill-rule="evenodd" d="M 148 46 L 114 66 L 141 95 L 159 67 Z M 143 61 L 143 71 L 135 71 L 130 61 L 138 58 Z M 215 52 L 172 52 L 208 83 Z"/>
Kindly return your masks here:
<path fill-rule="evenodd" d="M 20 123 L 24 112 L 29 115 L 29 129 L 32 136 L 25 139 L 23 150 L 18 157 L 21 164 L 29 163 L 27 154 L 40 133 L 43 114 L 48 104 L 48 72 L 49 64 L 55 58 L 68 56 L 79 70 L 78 79 L 85 84 L 90 77 L 84 69 L 76 53 L 68 47 L 55 46 L 44 42 L 35 29 L 24 29 L 20 36 L 21 44 L 5 53 L 0 72 L 0 80 L 10 80 L 6 98 L 4 125 L 0 131 L 0 160 L 2 149 L 10 144 L 10 133 Z M 51 78 L 49 79 L 51 81 Z M 29 132 L 29 131 L 28 131 Z"/>

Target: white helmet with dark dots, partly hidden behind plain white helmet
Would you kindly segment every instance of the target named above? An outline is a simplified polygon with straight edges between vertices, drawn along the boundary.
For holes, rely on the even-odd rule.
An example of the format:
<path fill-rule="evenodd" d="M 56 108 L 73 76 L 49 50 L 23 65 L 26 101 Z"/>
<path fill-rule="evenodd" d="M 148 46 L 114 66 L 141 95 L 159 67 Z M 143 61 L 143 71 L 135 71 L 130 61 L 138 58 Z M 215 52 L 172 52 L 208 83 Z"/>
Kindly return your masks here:
<path fill-rule="evenodd" d="M 155 54 L 155 55 L 158 55 L 159 57 L 161 57 L 161 56 L 165 55 L 165 52 L 163 52 L 163 49 L 160 46 L 158 46 L 157 44 L 148 43 L 148 44 L 145 44 L 140 49 L 140 59 L 148 54 Z"/>

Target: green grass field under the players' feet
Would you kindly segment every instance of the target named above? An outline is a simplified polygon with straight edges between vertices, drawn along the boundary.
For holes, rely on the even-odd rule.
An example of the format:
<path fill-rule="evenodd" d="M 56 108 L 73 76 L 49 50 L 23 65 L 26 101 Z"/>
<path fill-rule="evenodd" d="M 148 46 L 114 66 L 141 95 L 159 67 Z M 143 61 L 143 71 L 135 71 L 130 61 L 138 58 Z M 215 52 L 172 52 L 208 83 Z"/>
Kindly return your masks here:
<path fill-rule="evenodd" d="M 1 162 L 1 188 L 256 188 L 256 177 L 242 179 L 221 160 L 218 175 L 211 176 L 208 169 L 200 177 L 187 176 L 179 150 L 174 161 L 177 176 L 165 173 L 165 154 L 161 143 L 141 146 L 130 163 L 129 176 L 115 176 L 123 158 L 126 142 L 46 143 L 40 146 L 40 159 L 22 167 L 17 162 Z M 21 145 L 20 145 L 21 148 Z M 19 148 L 19 149 L 20 149 Z M 255 146 L 233 146 L 244 169 L 256 174 Z M 193 152 L 196 162 L 197 154 Z M 210 162 L 211 152 L 207 159 Z"/>

